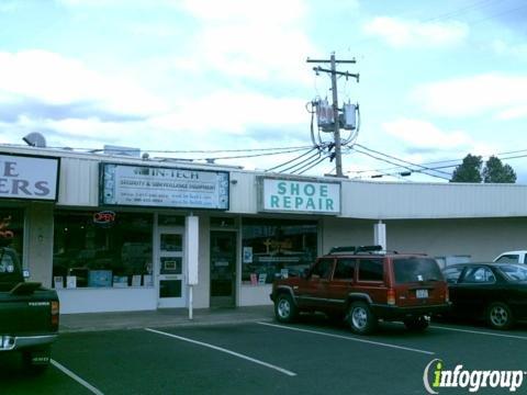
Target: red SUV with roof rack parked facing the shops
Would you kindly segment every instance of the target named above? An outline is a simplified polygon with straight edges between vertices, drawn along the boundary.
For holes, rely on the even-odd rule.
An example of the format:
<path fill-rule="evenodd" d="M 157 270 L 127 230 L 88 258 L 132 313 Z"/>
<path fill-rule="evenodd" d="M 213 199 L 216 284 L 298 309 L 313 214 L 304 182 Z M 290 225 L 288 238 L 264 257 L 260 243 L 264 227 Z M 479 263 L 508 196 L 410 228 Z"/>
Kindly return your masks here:
<path fill-rule="evenodd" d="M 322 312 L 346 319 L 361 335 L 373 331 L 379 319 L 424 330 L 431 314 L 450 306 L 435 259 L 381 246 L 335 247 L 302 276 L 276 280 L 270 296 L 279 321 Z"/>

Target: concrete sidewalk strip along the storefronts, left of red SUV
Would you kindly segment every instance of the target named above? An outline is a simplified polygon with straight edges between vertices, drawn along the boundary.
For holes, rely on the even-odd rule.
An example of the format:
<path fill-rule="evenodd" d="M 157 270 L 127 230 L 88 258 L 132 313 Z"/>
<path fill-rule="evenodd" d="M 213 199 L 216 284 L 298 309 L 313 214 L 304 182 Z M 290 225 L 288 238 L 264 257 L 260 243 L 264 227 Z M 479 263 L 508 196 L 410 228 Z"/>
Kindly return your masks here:
<path fill-rule="evenodd" d="M 194 325 L 228 325 L 270 321 L 274 317 L 272 305 L 197 308 L 189 319 L 188 308 L 166 308 L 146 312 L 85 313 L 60 315 L 60 334 L 117 329 L 161 328 Z"/>

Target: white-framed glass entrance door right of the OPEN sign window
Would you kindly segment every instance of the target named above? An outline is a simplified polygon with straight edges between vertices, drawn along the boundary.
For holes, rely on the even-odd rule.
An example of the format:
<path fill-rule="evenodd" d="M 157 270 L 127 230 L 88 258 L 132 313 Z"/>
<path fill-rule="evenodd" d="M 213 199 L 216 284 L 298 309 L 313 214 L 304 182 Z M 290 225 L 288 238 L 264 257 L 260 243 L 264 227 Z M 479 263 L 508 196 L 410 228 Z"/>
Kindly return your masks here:
<path fill-rule="evenodd" d="M 184 307 L 183 230 L 159 230 L 158 307 Z"/>

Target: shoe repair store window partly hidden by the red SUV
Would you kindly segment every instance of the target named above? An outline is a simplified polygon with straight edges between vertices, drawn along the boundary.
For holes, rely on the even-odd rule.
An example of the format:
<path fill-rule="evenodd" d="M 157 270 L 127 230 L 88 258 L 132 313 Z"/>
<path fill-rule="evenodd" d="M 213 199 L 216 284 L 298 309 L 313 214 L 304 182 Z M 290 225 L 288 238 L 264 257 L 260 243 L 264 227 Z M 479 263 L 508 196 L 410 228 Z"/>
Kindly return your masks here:
<path fill-rule="evenodd" d="M 317 256 L 314 221 L 243 221 L 242 282 L 270 284 L 276 278 L 300 275 Z"/>

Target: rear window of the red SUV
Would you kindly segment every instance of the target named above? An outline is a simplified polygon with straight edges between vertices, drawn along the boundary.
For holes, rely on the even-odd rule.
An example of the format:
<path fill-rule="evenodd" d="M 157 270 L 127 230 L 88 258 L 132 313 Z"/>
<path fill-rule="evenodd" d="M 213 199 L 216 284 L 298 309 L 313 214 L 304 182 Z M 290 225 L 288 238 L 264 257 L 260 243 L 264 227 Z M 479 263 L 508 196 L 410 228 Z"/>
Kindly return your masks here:
<path fill-rule="evenodd" d="M 416 281 L 442 281 L 439 266 L 430 258 L 394 258 L 393 268 L 396 283 Z"/>

